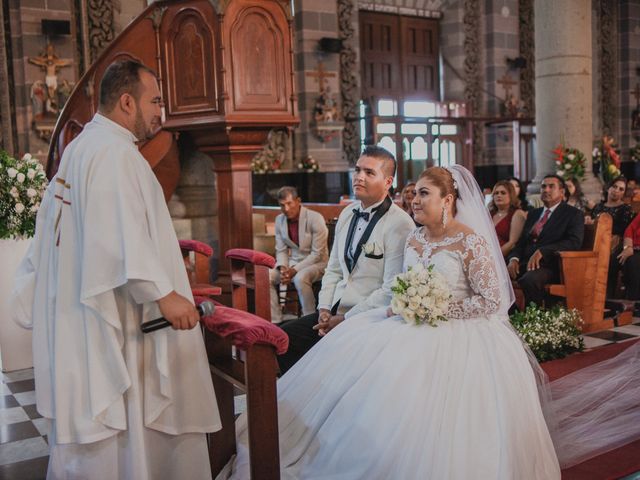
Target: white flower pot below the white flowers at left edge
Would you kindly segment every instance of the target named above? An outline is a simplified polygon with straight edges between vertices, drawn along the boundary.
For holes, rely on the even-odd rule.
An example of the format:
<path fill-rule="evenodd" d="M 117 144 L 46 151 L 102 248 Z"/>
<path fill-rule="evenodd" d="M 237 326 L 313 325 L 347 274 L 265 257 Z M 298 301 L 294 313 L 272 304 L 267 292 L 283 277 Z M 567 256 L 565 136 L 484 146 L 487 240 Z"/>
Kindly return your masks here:
<path fill-rule="evenodd" d="M 0 357 L 2 371 L 33 367 L 31 330 L 15 323 L 9 310 L 13 277 L 31 239 L 0 240 Z"/>

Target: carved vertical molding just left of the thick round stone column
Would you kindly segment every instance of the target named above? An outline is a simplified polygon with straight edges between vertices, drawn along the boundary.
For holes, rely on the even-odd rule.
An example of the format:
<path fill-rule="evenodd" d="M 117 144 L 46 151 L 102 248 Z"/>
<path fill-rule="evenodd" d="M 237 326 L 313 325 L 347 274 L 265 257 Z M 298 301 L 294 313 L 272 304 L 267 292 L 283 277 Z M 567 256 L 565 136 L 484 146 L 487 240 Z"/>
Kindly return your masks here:
<path fill-rule="evenodd" d="M 536 114 L 535 26 L 533 0 L 519 0 L 520 56 L 527 64 L 520 70 L 520 99 L 527 117 Z"/>

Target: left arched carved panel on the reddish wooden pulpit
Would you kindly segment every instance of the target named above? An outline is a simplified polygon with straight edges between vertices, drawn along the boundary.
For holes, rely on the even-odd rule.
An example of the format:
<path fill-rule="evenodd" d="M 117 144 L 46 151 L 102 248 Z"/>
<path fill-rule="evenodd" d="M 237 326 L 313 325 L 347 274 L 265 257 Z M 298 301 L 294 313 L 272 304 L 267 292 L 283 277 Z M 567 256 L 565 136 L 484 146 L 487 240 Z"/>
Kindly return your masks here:
<path fill-rule="evenodd" d="M 171 20 L 165 38 L 167 113 L 216 111 L 216 40 L 199 11 L 186 8 Z"/>

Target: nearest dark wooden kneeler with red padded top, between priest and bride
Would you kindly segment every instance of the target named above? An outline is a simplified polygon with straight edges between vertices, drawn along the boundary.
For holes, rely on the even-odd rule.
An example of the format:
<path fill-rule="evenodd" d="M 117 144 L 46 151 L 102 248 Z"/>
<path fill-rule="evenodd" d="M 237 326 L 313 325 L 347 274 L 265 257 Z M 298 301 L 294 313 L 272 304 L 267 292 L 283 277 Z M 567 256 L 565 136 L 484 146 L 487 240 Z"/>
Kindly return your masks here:
<path fill-rule="evenodd" d="M 202 300 L 202 299 L 198 299 Z M 234 386 L 247 395 L 251 479 L 280 478 L 276 355 L 289 339 L 277 326 L 247 312 L 216 306 L 202 319 L 222 430 L 209 435 L 214 477 L 236 453 Z M 234 353 L 235 350 L 235 353 Z"/>

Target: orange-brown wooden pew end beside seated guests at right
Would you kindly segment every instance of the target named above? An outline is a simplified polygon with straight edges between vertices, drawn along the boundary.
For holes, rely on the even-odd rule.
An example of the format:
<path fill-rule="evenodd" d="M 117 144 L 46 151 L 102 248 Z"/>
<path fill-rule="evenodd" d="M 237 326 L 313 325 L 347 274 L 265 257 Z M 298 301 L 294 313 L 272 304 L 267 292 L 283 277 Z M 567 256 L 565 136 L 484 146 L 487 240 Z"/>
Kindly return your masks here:
<path fill-rule="evenodd" d="M 585 225 L 582 249 L 559 252 L 561 283 L 547 285 L 549 294 L 565 298 L 567 308 L 580 311 L 583 333 L 613 326 L 611 320 L 604 319 L 611 227 L 608 214 L 600 215 L 593 225 Z"/>

